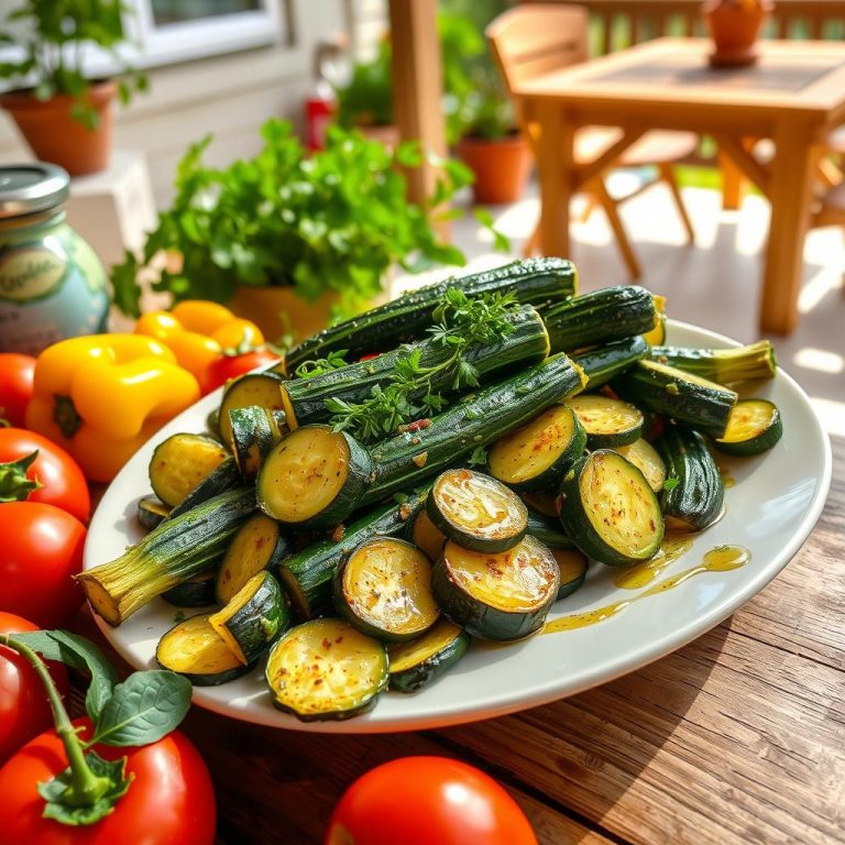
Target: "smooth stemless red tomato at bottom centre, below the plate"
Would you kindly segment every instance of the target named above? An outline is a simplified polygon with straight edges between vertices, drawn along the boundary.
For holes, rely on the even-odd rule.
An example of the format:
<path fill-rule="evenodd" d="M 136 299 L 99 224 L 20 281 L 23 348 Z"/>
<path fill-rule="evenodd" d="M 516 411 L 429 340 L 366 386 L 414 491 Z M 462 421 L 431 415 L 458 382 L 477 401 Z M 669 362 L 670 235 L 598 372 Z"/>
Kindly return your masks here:
<path fill-rule="evenodd" d="M 537 845 L 537 837 L 516 801 L 483 771 L 446 757 L 403 757 L 362 775 L 343 793 L 325 845 L 398 842 Z"/>

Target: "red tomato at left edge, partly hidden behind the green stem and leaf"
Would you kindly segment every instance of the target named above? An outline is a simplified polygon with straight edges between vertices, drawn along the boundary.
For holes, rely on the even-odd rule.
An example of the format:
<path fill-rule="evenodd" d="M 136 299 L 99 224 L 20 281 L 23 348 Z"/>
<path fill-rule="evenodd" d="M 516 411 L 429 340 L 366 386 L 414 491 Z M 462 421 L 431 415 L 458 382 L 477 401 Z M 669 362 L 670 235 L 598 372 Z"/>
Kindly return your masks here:
<path fill-rule="evenodd" d="M 29 619 L 0 612 L 0 634 L 37 630 Z M 67 695 L 67 671 L 62 663 L 48 663 L 53 682 Z M 0 646 L 0 766 L 19 748 L 53 725 L 44 684 L 25 658 Z"/>

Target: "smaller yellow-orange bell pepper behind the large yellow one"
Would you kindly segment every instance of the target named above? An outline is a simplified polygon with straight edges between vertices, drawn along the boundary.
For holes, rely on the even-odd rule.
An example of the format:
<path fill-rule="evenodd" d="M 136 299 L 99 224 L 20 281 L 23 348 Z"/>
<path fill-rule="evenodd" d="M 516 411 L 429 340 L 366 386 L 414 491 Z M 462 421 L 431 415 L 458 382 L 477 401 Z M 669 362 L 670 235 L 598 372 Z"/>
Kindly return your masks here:
<path fill-rule="evenodd" d="M 210 364 L 222 358 L 226 350 L 245 350 L 264 343 L 254 322 L 204 299 L 185 299 L 172 311 L 144 314 L 135 323 L 135 333 L 164 343 L 176 355 L 179 366 L 193 373 L 200 385 Z"/>

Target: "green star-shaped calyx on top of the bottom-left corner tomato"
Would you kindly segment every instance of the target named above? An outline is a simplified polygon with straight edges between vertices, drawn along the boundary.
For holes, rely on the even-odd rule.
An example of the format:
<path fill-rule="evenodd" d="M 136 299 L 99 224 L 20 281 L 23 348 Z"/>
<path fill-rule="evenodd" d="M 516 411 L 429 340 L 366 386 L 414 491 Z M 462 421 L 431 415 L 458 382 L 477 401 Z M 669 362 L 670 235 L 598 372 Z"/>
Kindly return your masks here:
<path fill-rule="evenodd" d="M 45 819 L 55 819 L 72 826 L 95 824 L 109 815 L 120 798 L 127 794 L 134 776 L 127 776 L 125 757 L 110 762 L 96 751 L 88 751 L 85 760 L 102 793 L 92 804 L 80 804 L 68 767 L 53 780 L 39 783 L 39 794 L 46 802 L 43 812 Z"/>

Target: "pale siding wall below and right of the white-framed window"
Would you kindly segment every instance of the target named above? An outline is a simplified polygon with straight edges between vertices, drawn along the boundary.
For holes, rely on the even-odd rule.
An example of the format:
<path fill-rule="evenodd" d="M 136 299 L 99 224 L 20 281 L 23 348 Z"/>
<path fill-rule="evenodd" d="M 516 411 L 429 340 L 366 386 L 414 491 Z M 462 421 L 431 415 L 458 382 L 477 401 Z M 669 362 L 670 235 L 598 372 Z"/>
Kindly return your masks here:
<path fill-rule="evenodd" d="M 156 204 L 172 196 L 176 162 L 212 132 L 209 164 L 254 155 L 260 125 L 270 117 L 301 127 L 311 87 L 315 45 L 349 29 L 350 0 L 277 0 L 287 18 L 287 43 L 215 56 L 149 72 L 151 91 L 116 112 L 117 147 L 141 150 Z M 6 6 L 6 3 L 3 3 Z M 12 120 L 0 112 L 0 162 L 30 158 Z"/>

